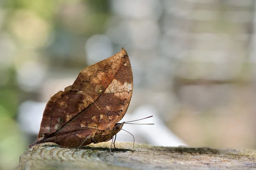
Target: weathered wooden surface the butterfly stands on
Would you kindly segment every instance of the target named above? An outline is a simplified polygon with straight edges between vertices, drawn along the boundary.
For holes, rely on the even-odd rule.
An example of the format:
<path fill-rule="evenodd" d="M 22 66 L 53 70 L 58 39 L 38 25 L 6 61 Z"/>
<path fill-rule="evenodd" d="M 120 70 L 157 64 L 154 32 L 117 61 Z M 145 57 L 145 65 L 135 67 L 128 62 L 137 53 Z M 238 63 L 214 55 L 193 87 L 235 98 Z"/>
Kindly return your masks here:
<path fill-rule="evenodd" d="M 109 142 L 81 149 L 41 144 L 20 156 L 20 170 L 256 170 L 256 150 L 215 150 L 210 148 L 156 147 Z"/>

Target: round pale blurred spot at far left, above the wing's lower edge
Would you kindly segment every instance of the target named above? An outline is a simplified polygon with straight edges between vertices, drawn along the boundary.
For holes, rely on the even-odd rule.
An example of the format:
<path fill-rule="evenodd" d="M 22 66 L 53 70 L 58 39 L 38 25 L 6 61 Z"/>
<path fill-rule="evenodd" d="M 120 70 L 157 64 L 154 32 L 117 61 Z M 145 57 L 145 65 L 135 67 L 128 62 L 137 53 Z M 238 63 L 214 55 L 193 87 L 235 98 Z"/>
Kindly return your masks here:
<path fill-rule="evenodd" d="M 34 91 L 44 80 L 45 68 L 39 62 L 26 61 L 17 68 L 17 82 L 24 91 Z"/>

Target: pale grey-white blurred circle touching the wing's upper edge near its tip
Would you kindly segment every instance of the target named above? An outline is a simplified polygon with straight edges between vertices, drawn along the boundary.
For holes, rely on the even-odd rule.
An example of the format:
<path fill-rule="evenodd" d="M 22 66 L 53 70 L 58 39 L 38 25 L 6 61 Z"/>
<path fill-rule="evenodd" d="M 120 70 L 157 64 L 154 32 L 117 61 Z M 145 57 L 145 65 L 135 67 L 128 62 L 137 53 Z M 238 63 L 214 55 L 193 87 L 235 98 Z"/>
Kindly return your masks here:
<path fill-rule="evenodd" d="M 111 40 L 105 35 L 93 35 L 85 44 L 88 64 L 94 64 L 113 55 Z"/>

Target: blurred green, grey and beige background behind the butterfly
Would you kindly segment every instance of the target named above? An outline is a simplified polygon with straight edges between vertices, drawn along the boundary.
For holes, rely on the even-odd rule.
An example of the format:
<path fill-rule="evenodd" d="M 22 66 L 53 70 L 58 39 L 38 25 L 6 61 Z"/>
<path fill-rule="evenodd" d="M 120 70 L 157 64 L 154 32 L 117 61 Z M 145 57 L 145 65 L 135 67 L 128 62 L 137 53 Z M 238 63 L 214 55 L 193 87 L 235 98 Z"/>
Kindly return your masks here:
<path fill-rule="evenodd" d="M 254 0 L 0 0 L 0 169 L 17 169 L 49 98 L 122 47 L 123 120 L 154 115 L 124 126 L 135 142 L 255 149 L 255 18 Z"/>

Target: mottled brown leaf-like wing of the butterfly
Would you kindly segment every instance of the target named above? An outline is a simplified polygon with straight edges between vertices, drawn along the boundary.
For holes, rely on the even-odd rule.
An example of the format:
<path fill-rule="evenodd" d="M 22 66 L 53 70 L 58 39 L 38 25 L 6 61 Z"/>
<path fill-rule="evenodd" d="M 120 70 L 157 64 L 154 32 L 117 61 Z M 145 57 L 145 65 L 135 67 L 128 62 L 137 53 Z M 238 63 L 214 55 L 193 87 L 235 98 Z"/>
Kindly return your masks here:
<path fill-rule="evenodd" d="M 122 48 L 116 55 L 84 68 L 73 85 L 49 99 L 38 139 L 29 147 L 43 142 L 70 147 L 70 143 L 65 146 L 65 138 L 81 142 L 77 134 L 93 136 L 97 130 L 113 128 L 125 115 L 132 91 L 131 63 Z"/>

